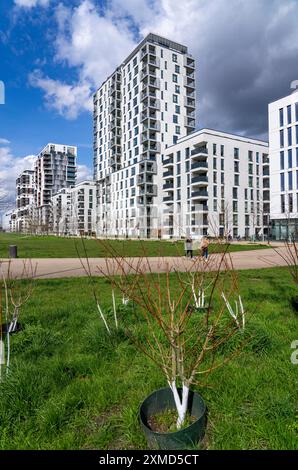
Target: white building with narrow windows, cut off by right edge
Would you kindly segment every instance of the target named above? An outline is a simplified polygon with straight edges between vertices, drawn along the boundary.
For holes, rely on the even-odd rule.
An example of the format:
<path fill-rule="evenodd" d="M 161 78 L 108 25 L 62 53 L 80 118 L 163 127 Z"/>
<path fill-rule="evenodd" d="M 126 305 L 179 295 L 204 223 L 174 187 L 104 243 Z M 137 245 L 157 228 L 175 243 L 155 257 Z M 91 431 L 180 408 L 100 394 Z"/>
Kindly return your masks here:
<path fill-rule="evenodd" d="M 298 92 L 269 104 L 272 237 L 298 238 Z"/>

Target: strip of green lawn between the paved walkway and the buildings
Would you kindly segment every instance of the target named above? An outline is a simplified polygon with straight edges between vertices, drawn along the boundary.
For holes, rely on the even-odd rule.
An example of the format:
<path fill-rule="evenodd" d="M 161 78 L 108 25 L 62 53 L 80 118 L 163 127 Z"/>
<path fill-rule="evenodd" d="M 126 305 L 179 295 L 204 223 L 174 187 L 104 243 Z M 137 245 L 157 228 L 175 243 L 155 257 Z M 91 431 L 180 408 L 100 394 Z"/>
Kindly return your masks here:
<path fill-rule="evenodd" d="M 125 256 L 181 256 L 184 255 L 184 242 L 158 240 L 110 240 L 111 247 Z M 76 246 L 83 254 L 80 238 L 62 238 L 54 236 L 27 236 L 13 233 L 0 233 L 0 258 L 8 257 L 9 245 L 18 246 L 19 258 L 77 258 Z M 90 258 L 109 256 L 105 246 L 99 240 L 85 240 Z M 224 245 L 222 245 L 224 247 Z M 246 251 L 267 248 L 267 245 L 251 243 L 247 245 L 231 244 L 230 251 Z M 210 252 L 218 247 L 210 246 Z"/>

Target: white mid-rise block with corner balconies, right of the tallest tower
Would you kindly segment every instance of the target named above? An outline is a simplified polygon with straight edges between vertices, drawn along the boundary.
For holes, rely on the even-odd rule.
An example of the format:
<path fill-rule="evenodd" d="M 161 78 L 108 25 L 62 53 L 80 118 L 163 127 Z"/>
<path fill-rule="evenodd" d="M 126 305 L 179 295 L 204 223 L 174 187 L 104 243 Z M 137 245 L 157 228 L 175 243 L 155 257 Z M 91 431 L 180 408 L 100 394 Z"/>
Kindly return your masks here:
<path fill-rule="evenodd" d="M 202 129 L 163 160 L 162 237 L 264 238 L 269 228 L 268 143 Z"/>

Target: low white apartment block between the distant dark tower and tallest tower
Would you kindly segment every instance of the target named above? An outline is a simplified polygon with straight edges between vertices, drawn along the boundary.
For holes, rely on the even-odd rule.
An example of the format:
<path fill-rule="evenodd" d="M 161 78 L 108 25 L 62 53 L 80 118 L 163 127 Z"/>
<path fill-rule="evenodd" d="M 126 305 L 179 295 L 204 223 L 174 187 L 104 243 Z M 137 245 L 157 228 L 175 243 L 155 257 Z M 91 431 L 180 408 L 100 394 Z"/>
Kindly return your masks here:
<path fill-rule="evenodd" d="M 59 236 L 96 235 L 96 183 L 82 181 L 52 196 L 53 233 Z"/>

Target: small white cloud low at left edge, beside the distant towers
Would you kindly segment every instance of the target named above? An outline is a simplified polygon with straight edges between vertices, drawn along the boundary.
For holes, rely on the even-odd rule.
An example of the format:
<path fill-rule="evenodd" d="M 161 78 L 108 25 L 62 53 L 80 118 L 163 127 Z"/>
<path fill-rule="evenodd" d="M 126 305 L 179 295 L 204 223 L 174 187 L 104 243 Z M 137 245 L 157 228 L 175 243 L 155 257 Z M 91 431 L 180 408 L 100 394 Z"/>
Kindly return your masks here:
<path fill-rule="evenodd" d="M 9 141 L 0 139 L 0 198 L 2 201 L 14 206 L 16 178 L 22 171 L 33 169 L 35 159 L 35 155 L 14 157 Z"/>

